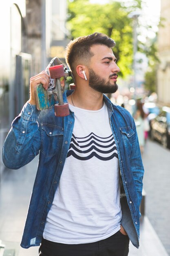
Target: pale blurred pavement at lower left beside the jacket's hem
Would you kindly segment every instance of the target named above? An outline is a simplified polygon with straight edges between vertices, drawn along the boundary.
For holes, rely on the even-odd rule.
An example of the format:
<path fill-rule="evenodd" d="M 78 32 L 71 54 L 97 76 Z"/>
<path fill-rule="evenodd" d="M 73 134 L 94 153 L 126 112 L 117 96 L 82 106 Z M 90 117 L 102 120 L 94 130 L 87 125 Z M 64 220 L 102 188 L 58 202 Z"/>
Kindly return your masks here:
<path fill-rule="evenodd" d="M 15 256 L 38 256 L 38 247 L 20 247 L 37 164 L 38 157 L 19 170 L 7 169 L 0 183 L 0 240 Z"/>

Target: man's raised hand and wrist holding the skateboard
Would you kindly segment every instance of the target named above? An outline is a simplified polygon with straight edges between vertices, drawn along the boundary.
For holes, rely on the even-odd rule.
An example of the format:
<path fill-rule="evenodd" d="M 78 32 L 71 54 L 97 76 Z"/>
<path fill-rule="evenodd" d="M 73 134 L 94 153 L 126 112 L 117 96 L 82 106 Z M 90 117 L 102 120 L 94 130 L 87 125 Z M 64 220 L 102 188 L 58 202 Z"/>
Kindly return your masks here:
<path fill-rule="evenodd" d="M 48 86 L 49 86 L 49 82 L 50 82 L 49 81 L 49 75 L 45 71 L 42 71 L 40 74 L 30 78 L 30 99 L 29 99 L 29 103 L 31 105 L 36 105 L 34 87 L 36 85 L 38 85 L 39 83 L 42 83 L 42 86 L 44 87 L 44 89 L 47 90 Z"/>

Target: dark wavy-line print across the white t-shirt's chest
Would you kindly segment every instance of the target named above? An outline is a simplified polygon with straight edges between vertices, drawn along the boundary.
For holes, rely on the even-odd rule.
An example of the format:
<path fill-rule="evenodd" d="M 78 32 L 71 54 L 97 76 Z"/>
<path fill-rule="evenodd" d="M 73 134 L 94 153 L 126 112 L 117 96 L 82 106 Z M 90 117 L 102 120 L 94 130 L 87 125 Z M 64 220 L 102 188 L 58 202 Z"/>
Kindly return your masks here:
<path fill-rule="evenodd" d="M 75 157 L 79 160 L 88 160 L 97 157 L 102 161 L 108 161 L 117 157 L 115 140 L 111 134 L 108 137 L 99 137 L 91 132 L 86 137 L 72 135 L 67 157 Z"/>

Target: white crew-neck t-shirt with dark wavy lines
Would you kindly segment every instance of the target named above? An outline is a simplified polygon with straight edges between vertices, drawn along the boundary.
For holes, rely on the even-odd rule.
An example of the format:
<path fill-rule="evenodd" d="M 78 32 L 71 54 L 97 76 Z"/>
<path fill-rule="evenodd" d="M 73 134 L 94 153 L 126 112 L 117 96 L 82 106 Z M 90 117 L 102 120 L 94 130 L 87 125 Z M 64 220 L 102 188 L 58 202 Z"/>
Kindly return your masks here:
<path fill-rule="evenodd" d="M 119 162 L 107 107 L 69 105 L 75 125 L 60 184 L 43 237 L 65 243 L 93 243 L 120 229 Z"/>

